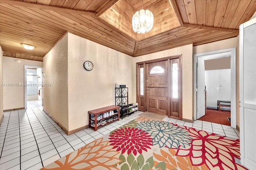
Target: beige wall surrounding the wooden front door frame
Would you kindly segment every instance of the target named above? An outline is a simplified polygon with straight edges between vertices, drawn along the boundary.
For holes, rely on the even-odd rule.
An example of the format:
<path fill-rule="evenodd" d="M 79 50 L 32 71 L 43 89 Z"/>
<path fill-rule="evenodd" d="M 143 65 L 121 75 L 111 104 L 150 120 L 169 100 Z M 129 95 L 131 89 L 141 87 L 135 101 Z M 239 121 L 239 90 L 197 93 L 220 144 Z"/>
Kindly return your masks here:
<path fill-rule="evenodd" d="M 134 70 L 136 63 L 170 57 L 174 55 L 182 55 L 182 118 L 193 120 L 193 60 L 192 60 L 192 44 L 160 51 L 157 53 L 143 55 L 134 58 Z M 134 82 L 136 74 L 134 73 Z M 134 83 L 134 96 L 136 96 L 136 83 Z"/>

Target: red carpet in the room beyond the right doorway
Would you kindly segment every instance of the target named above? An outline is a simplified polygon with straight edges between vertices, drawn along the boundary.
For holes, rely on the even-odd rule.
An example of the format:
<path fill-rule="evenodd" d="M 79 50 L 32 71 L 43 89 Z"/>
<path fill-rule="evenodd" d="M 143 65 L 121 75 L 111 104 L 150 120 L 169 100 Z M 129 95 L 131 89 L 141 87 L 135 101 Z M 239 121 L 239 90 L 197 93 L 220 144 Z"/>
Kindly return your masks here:
<path fill-rule="evenodd" d="M 198 120 L 230 126 L 230 121 L 227 119 L 228 117 L 230 117 L 230 111 L 207 109 L 206 114 Z"/>

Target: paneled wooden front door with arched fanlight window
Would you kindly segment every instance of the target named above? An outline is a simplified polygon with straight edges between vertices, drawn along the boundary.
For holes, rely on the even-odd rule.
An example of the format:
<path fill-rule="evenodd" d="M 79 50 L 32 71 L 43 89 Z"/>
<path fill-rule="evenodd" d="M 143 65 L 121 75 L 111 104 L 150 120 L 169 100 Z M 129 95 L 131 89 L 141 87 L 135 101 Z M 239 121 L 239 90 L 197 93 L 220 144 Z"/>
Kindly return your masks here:
<path fill-rule="evenodd" d="M 168 115 L 168 61 L 146 64 L 146 111 Z"/>

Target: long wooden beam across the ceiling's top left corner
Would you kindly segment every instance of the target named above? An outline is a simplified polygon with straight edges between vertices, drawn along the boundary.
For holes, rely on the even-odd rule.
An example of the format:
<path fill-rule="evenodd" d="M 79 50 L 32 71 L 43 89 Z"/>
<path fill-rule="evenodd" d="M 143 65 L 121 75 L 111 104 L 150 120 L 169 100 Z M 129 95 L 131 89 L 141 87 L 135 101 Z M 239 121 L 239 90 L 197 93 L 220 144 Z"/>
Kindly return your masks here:
<path fill-rule="evenodd" d="M 7 5 L 12 5 L 12 6 L 24 6 L 27 8 L 36 8 L 36 9 L 40 9 L 40 10 L 51 10 L 51 11 L 58 12 L 58 13 L 70 13 L 70 14 L 80 14 L 80 15 L 89 15 L 89 16 L 96 15 L 96 12 L 74 10 L 74 9 L 70 9 L 70 8 L 62 8 L 62 7 L 57 7 L 57 6 L 35 4 L 35 3 L 23 2 L 23 1 L 17 1 L 17 0 L 1 0 L 0 4 L 7 4 Z"/>

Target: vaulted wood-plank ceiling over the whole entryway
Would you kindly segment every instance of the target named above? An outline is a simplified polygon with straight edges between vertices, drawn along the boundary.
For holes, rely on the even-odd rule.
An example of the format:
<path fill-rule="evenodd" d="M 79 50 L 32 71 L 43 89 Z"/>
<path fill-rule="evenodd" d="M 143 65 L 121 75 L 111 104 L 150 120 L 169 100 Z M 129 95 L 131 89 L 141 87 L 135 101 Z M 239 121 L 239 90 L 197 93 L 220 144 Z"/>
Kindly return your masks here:
<path fill-rule="evenodd" d="M 154 26 L 137 34 L 132 15 L 142 8 Z M 0 0 L 0 45 L 4 56 L 43 61 L 68 31 L 136 57 L 236 37 L 255 11 L 256 0 Z"/>

